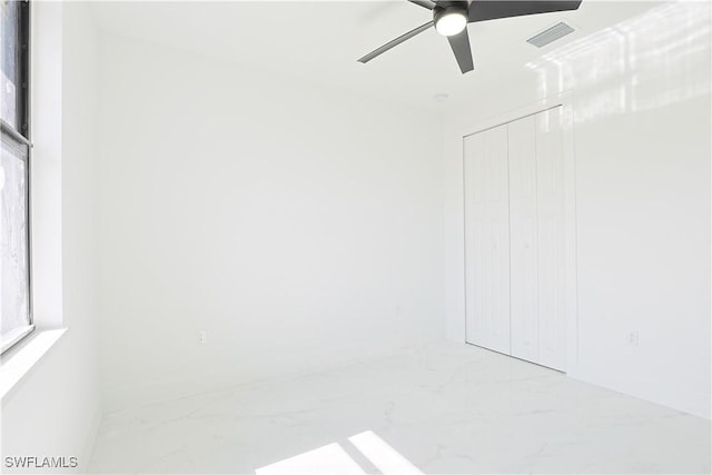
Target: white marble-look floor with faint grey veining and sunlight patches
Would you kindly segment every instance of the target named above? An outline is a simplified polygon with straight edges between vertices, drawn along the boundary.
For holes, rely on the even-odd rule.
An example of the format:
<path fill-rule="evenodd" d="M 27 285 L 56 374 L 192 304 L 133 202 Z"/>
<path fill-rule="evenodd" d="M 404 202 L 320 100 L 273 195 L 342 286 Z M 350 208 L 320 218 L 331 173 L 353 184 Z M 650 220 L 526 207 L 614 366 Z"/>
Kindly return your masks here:
<path fill-rule="evenodd" d="M 710 473 L 710 429 L 443 343 L 107 415 L 89 472 Z"/>

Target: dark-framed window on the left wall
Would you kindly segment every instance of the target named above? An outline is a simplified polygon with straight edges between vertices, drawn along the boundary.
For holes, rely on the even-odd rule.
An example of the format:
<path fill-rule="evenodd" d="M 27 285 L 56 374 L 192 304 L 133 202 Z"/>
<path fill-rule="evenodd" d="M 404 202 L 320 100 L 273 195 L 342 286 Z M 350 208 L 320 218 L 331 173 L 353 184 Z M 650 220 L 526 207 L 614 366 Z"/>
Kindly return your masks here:
<path fill-rule="evenodd" d="M 29 2 L 2 4 L 0 319 L 2 352 L 33 328 L 30 298 Z"/>

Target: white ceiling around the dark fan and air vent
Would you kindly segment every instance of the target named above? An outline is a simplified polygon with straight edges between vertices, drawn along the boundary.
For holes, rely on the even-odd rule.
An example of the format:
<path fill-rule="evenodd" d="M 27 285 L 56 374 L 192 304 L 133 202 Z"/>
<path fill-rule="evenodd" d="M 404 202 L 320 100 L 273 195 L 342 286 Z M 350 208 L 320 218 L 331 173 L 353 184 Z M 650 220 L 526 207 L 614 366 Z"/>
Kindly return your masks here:
<path fill-rule="evenodd" d="M 103 31 L 437 110 L 495 88 L 503 77 L 525 73 L 525 63 L 547 51 L 659 3 L 584 0 L 577 11 L 472 23 L 475 70 L 465 76 L 435 30 L 367 65 L 356 61 L 432 19 L 406 0 L 116 1 L 93 3 L 93 13 Z M 562 19 L 577 31 L 542 49 L 525 42 Z M 437 102 L 438 93 L 449 98 Z"/>

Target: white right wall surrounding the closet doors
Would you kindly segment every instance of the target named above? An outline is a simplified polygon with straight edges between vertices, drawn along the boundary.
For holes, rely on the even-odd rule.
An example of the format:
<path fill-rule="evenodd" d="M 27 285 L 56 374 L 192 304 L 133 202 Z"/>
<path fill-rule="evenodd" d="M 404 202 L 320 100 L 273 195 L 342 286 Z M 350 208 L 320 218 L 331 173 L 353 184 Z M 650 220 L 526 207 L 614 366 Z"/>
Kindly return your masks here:
<path fill-rule="evenodd" d="M 655 7 L 545 51 L 501 79 L 507 95 L 484 90 L 447 117 L 449 338 L 464 339 L 463 132 L 568 91 L 578 286 L 568 374 L 710 417 L 710 52 L 709 2 Z"/>

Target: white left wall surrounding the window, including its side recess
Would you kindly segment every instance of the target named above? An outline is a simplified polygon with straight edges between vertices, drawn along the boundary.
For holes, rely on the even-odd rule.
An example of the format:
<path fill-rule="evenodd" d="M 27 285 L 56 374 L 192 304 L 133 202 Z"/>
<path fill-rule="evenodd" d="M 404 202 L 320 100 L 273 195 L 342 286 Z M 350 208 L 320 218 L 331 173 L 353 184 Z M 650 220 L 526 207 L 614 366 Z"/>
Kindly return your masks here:
<path fill-rule="evenodd" d="M 96 40 L 83 3 L 33 2 L 32 9 L 34 318 L 38 331 L 69 329 L 3 397 L 2 455 L 75 456 L 81 471 L 100 417 Z"/>

